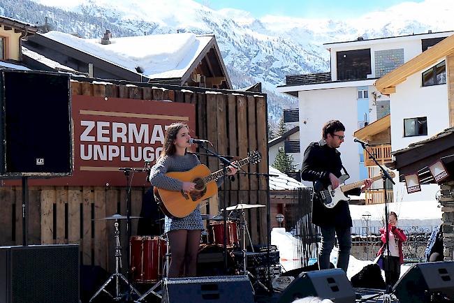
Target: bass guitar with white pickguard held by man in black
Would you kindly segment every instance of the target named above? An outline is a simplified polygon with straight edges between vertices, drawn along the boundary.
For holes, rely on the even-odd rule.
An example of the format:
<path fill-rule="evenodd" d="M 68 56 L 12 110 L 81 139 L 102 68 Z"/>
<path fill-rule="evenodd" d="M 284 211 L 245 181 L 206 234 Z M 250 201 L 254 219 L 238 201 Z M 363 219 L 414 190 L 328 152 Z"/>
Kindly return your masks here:
<path fill-rule="evenodd" d="M 390 177 L 394 178 L 395 173 L 388 171 Z M 372 179 L 373 182 L 381 179 L 383 172 L 379 176 L 375 176 Z M 346 179 L 349 179 L 349 175 L 342 175 L 339 177 L 340 183 L 344 183 Z M 332 189 L 331 184 L 329 186 L 324 186 L 322 182 L 317 181 L 314 184 L 314 192 L 318 196 L 318 199 L 321 200 L 322 205 L 326 208 L 332 208 L 339 203 L 339 201 L 349 201 L 350 197 L 347 197 L 344 193 L 350 191 L 351 189 L 358 189 L 364 184 L 365 180 L 354 182 L 351 184 L 340 185 L 336 189 Z"/>

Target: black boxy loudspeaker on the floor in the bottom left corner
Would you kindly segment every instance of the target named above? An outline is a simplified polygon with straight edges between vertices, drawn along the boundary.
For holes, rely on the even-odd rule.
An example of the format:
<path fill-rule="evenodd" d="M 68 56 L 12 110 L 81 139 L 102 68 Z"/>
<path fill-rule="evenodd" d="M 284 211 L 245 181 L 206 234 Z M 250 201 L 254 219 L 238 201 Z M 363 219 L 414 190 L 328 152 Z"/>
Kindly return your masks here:
<path fill-rule="evenodd" d="M 0 247 L 0 303 L 79 302 L 79 246 Z"/>

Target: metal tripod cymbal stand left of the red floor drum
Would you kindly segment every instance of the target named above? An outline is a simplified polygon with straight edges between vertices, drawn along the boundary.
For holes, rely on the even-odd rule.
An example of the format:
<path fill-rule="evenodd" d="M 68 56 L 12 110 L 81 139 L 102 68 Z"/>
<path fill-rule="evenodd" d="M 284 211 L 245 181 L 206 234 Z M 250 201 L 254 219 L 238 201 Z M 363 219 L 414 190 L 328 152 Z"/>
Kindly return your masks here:
<path fill-rule="evenodd" d="M 93 295 L 93 297 L 91 297 L 89 302 L 94 300 L 94 298 L 96 296 L 98 296 L 101 293 L 101 291 L 110 295 L 110 297 L 112 297 L 112 299 L 115 301 L 123 300 L 122 294 L 119 291 L 121 280 L 123 280 L 124 283 L 126 283 L 126 285 L 128 285 L 129 290 L 131 290 L 131 292 L 134 292 L 140 296 L 140 293 L 136 290 L 136 288 L 134 288 L 134 286 L 132 286 L 131 283 L 129 283 L 129 281 L 124 277 L 124 275 L 120 273 L 120 270 L 122 269 L 122 251 L 121 251 L 122 246 L 120 246 L 120 239 L 119 239 L 120 232 L 118 229 L 118 225 L 119 225 L 118 220 L 115 220 L 115 223 L 114 223 L 114 226 L 115 226 L 114 237 L 115 237 L 115 243 L 116 243 L 116 246 L 115 246 L 115 273 L 112 274 L 112 276 L 110 276 L 107 281 L 105 281 L 103 286 L 101 286 L 101 288 L 98 289 L 98 291 Z M 115 278 L 115 297 L 112 296 L 112 294 L 110 294 L 107 290 L 105 290 L 105 288 L 108 286 L 110 281 L 112 281 L 114 278 Z"/>

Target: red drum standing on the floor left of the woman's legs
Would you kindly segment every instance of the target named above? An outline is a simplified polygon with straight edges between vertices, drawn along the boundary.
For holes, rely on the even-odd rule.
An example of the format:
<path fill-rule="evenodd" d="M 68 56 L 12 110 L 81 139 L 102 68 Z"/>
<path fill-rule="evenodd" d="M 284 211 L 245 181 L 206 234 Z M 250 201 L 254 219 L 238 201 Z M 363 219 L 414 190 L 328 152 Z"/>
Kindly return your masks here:
<path fill-rule="evenodd" d="M 167 242 L 161 237 L 131 237 L 131 273 L 136 283 L 156 283 L 161 279 Z"/>

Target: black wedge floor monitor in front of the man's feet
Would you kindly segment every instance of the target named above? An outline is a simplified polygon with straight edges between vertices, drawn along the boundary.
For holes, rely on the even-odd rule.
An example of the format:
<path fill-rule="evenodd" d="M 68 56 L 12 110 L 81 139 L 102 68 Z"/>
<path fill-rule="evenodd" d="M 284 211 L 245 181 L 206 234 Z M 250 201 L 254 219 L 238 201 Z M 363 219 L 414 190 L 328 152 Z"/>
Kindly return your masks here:
<path fill-rule="evenodd" d="M 279 303 L 290 303 L 305 297 L 321 297 L 335 303 L 355 302 L 355 292 L 342 269 L 302 272 L 284 290 Z"/>

